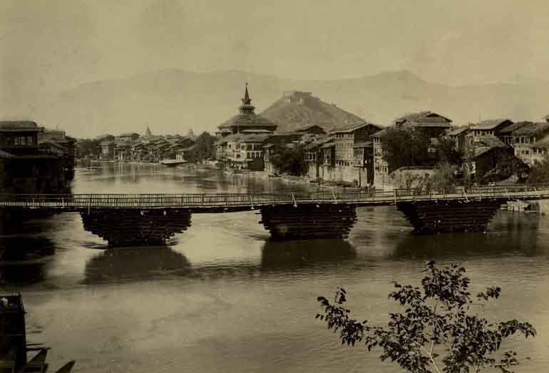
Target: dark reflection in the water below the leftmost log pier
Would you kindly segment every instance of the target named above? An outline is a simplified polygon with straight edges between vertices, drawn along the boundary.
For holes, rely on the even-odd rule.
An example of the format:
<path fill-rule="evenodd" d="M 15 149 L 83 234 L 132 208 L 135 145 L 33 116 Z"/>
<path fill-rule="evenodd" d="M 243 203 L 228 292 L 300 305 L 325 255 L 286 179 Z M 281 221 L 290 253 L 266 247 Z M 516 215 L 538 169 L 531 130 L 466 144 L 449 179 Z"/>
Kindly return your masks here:
<path fill-rule="evenodd" d="M 112 248 L 86 263 L 83 283 L 148 280 L 167 273 L 190 272 L 190 263 L 167 246 Z"/>

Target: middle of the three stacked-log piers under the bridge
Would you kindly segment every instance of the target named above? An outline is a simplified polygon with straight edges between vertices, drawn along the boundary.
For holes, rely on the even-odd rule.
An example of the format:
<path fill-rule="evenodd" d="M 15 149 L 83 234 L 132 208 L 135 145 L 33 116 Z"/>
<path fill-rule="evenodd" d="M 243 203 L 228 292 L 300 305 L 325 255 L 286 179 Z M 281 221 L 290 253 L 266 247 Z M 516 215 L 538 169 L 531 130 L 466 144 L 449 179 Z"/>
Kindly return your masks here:
<path fill-rule="evenodd" d="M 261 207 L 261 221 L 274 240 L 345 238 L 356 221 L 352 204 Z"/>

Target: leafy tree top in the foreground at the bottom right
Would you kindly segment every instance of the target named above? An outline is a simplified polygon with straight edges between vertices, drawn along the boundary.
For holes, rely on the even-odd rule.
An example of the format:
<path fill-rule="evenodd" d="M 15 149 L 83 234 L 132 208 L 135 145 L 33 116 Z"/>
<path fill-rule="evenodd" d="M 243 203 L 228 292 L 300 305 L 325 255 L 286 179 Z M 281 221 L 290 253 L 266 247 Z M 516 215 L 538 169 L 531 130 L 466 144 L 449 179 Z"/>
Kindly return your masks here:
<path fill-rule="evenodd" d="M 381 347 L 381 361 L 390 359 L 407 373 L 477 373 L 486 367 L 510 373 L 519 364 L 516 352 L 506 351 L 498 359 L 493 354 L 515 333 L 535 336 L 534 327 L 518 320 L 489 322 L 471 310 L 498 298 L 501 288 L 487 288 L 473 303 L 468 291 L 470 280 L 463 275 L 465 268 L 439 269 L 429 261 L 424 272 L 422 289 L 394 283 L 389 298 L 405 310 L 390 313 L 387 327 L 370 326 L 367 321 L 349 317 L 343 288 L 337 290 L 333 303 L 318 298 L 324 314 L 317 314 L 317 318 L 324 320 L 328 329 L 339 331 L 342 344 L 364 342 L 369 351 Z"/>

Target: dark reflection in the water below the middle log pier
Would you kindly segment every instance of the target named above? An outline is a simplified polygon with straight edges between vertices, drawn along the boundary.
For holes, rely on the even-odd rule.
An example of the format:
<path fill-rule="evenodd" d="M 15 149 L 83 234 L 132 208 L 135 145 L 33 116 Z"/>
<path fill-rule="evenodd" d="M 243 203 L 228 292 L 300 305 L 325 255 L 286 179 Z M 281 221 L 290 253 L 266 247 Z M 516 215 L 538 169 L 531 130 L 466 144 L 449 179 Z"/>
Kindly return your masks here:
<path fill-rule="evenodd" d="M 264 271 L 302 269 L 323 263 L 341 263 L 355 257 L 354 247 L 340 239 L 267 241 L 263 246 L 261 268 Z"/>

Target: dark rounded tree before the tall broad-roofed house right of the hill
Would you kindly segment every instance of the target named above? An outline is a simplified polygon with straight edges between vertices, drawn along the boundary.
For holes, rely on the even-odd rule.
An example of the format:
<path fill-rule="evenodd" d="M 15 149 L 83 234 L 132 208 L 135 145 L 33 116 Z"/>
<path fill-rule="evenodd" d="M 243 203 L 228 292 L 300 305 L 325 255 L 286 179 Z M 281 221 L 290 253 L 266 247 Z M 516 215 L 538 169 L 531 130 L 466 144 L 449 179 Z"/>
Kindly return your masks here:
<path fill-rule="evenodd" d="M 389 127 L 383 142 L 386 147 L 384 159 L 389 170 L 432 164 L 429 139 L 419 131 L 406 127 Z"/>

